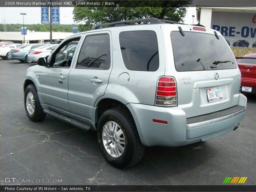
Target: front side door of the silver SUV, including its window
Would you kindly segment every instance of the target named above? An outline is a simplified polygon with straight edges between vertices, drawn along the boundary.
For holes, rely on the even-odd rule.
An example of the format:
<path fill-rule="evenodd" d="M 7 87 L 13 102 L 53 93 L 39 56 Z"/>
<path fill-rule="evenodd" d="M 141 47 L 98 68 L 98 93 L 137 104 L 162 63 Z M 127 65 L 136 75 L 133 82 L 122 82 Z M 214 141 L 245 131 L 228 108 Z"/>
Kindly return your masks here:
<path fill-rule="evenodd" d="M 42 69 L 39 82 L 44 104 L 50 109 L 70 112 L 68 106 L 68 74 L 71 70 L 72 55 L 68 50 L 77 46 L 80 37 L 70 38 L 48 58 L 47 66 Z"/>

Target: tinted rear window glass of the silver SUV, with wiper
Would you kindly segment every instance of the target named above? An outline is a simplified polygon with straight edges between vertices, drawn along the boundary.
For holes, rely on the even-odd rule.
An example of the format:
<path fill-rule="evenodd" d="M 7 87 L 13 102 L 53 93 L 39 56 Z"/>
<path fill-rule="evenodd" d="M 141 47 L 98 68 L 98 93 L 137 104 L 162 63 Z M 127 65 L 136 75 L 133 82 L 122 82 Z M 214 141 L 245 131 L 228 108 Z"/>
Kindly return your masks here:
<path fill-rule="evenodd" d="M 175 68 L 177 71 L 234 69 L 236 61 L 223 37 L 197 32 L 171 32 Z M 213 64 L 215 61 L 225 63 Z M 216 68 L 211 68 L 211 66 Z"/>

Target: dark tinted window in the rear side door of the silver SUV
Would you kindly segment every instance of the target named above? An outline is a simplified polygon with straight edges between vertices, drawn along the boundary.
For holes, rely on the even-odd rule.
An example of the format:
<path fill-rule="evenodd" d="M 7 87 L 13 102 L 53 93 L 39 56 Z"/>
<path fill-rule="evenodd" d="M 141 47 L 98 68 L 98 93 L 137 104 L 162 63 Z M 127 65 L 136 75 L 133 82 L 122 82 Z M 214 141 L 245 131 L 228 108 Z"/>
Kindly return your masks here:
<path fill-rule="evenodd" d="M 79 53 L 76 67 L 108 69 L 110 67 L 109 35 L 87 36 Z"/>

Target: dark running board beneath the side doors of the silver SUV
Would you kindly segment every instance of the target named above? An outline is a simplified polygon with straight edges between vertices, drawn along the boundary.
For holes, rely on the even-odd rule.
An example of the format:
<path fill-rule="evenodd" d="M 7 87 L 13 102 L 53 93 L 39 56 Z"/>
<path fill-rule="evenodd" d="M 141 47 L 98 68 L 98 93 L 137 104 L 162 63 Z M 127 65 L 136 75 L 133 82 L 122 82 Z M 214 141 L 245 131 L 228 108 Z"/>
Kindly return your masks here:
<path fill-rule="evenodd" d="M 80 129 L 83 129 L 84 131 L 90 131 L 92 129 L 92 127 L 90 125 L 81 123 L 79 121 L 76 121 L 75 119 L 66 117 L 64 115 L 60 115 L 59 113 L 56 113 L 52 110 L 44 109 L 44 113 L 47 114 L 47 115 L 53 116 L 53 117 L 55 117 L 55 118 L 57 118 L 61 121 L 64 121 L 68 124 L 74 125 L 74 126 L 80 128 Z"/>

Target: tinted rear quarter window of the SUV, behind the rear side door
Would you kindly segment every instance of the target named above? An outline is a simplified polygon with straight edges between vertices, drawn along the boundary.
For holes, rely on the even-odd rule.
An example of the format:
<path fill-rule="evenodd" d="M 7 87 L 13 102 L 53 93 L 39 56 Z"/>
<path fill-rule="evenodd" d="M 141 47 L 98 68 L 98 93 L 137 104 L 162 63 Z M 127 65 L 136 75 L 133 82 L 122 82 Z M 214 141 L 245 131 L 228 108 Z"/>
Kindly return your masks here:
<path fill-rule="evenodd" d="M 134 71 L 156 71 L 158 45 L 154 31 L 124 31 L 119 34 L 124 65 Z"/>

